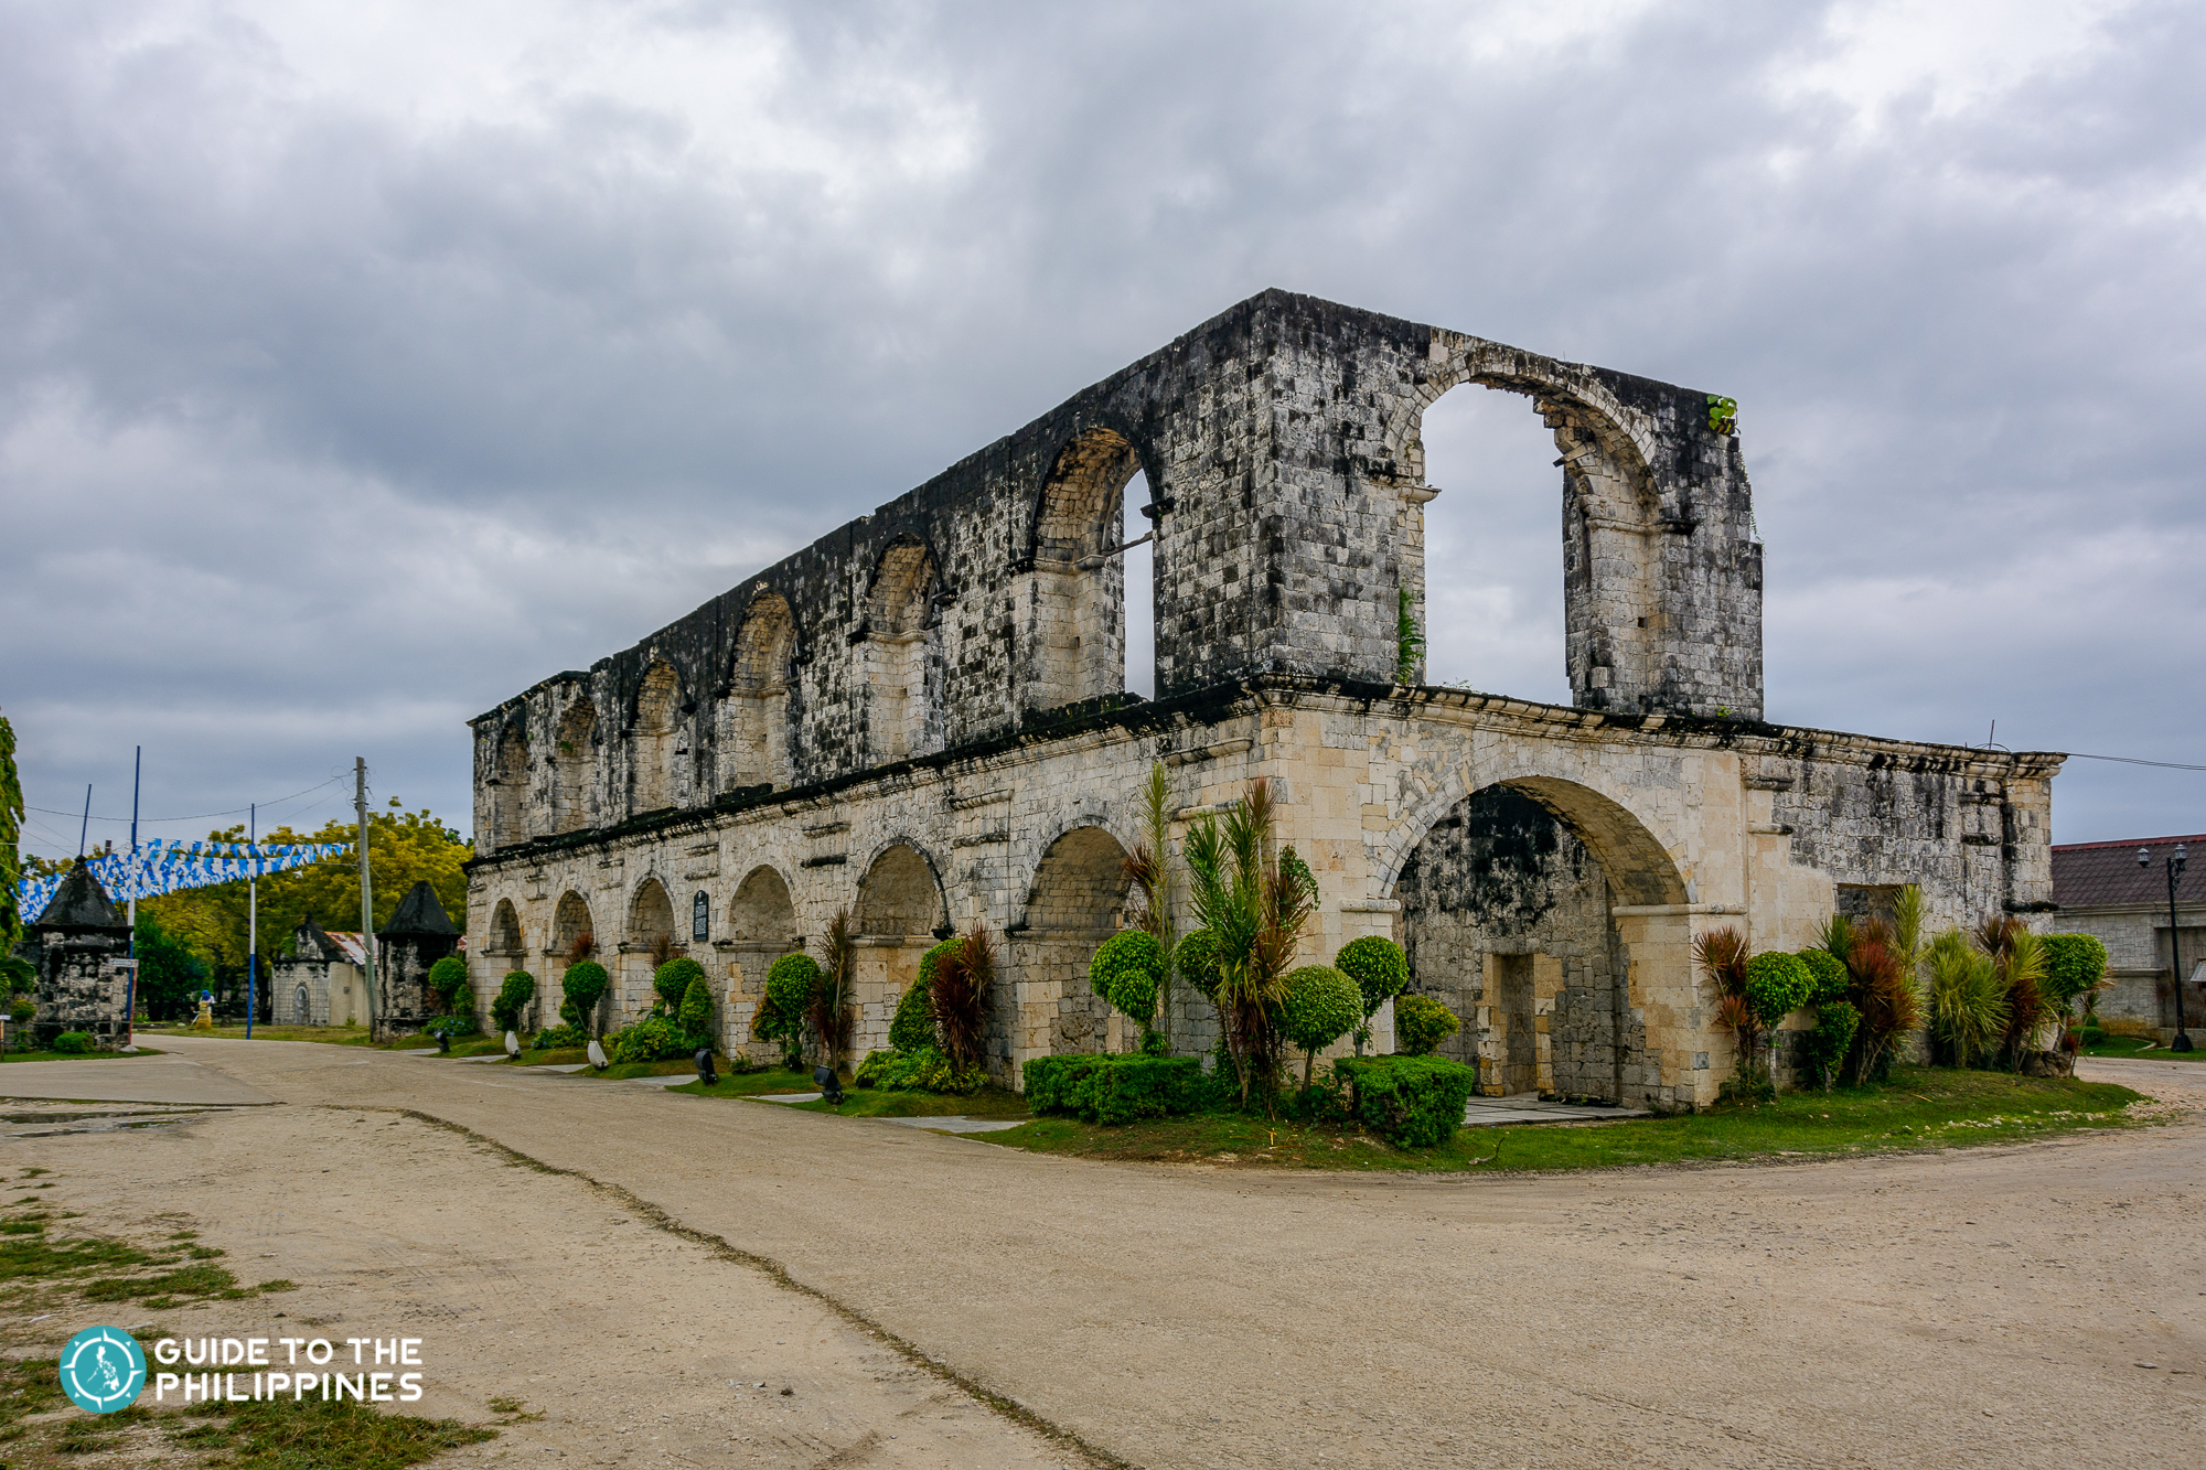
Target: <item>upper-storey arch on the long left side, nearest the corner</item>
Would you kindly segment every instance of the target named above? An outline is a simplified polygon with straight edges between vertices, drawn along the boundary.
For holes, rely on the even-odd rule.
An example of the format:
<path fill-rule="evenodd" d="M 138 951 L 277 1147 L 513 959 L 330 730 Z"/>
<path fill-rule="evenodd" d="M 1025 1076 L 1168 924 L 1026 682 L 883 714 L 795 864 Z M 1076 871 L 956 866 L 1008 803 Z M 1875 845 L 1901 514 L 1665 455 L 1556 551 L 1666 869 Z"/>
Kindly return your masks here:
<path fill-rule="evenodd" d="M 1127 541 L 1125 488 L 1141 468 L 1141 455 L 1123 435 L 1090 428 L 1059 452 L 1041 486 L 1026 605 L 1028 709 L 1127 689 L 1127 563 L 1118 547 Z M 1154 686 L 1154 673 L 1149 682 Z"/>

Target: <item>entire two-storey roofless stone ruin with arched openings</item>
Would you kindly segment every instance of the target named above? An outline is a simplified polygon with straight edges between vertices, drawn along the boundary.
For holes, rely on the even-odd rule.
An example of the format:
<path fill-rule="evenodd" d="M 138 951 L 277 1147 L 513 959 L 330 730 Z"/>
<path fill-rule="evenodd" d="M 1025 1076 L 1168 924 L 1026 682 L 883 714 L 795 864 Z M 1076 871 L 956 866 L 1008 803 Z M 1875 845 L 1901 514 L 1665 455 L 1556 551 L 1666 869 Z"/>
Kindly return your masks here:
<path fill-rule="evenodd" d="M 1458 386 L 1553 430 L 1571 706 L 1403 667 L 1441 494 L 1421 419 Z M 1125 693 L 1129 483 L 1149 700 Z M 927 945 L 982 923 L 990 1070 L 1017 1086 L 1028 1057 L 1136 1040 L 1088 960 L 1165 761 L 1182 823 L 1273 781 L 1321 887 L 1304 958 L 1401 940 L 1489 1090 L 1705 1104 L 1732 1042 L 1696 934 L 1798 949 L 1902 883 L 1939 925 L 2052 901 L 2060 757 L 1765 722 L 1760 605 L 1718 400 L 1266 291 L 476 717 L 474 984 L 529 969 L 554 1015 L 593 951 L 618 1024 L 653 954 L 688 954 L 741 1044 L 772 958 L 849 907 L 863 1055 Z M 1176 1048 L 1207 1046 L 1209 1006 L 1178 1000 Z"/>

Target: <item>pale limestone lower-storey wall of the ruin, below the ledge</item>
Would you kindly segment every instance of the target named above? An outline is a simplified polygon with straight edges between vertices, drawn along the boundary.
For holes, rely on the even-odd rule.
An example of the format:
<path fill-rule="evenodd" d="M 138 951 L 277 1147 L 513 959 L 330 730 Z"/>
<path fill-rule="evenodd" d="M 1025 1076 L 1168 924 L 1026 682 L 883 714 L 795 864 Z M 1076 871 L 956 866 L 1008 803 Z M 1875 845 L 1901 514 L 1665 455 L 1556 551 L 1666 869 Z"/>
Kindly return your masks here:
<path fill-rule="evenodd" d="M 1767 773 L 1798 770 L 1802 750 L 1816 753 L 1809 792 L 1835 806 L 1866 801 L 1862 792 L 1895 764 L 1917 766 L 1924 790 L 1943 790 L 1943 806 L 1924 806 L 1921 821 L 1886 839 L 1849 839 L 1849 881 L 1919 881 L 1935 914 L 1968 918 L 2003 912 L 1996 898 L 1968 907 L 1983 894 L 2034 901 L 2023 874 L 2043 870 L 2043 854 L 2030 841 L 2016 843 L 2018 874 L 1970 887 L 1959 828 L 1946 825 L 1943 863 L 1924 865 L 1921 834 L 1937 832 L 1930 812 L 1959 812 L 1977 784 L 2027 795 L 2054 757 L 1271 678 L 1231 697 L 1101 713 L 825 792 L 759 795 L 735 810 L 578 832 L 479 861 L 468 927 L 490 934 L 499 905 L 514 907 L 549 1015 L 563 956 L 587 923 L 600 958 L 611 951 L 607 965 L 618 967 L 609 1020 L 620 1024 L 649 1009 L 649 945 L 679 914 L 675 951 L 706 960 L 726 984 L 724 1035 L 741 1040 L 781 940 L 796 938 L 816 956 L 827 920 L 849 905 L 867 936 L 863 1053 L 887 1044 L 893 1002 L 935 934 L 982 923 L 1004 936 L 990 1066 L 1015 1082 L 1026 1057 L 1134 1040 L 1088 993 L 1085 960 L 1123 912 L 1125 883 L 1112 874 L 1138 837 L 1152 761 L 1167 761 L 1182 817 L 1218 810 L 1264 775 L 1284 797 L 1279 837 L 1306 856 L 1324 894 L 1306 958 L 1330 958 L 1372 931 L 1432 945 L 1418 954 L 1418 987 L 1456 1006 L 1467 1022 L 1463 1053 L 1482 1048 L 1496 1068 L 1511 1048 L 1507 1029 L 1493 1029 L 1498 989 L 1487 989 L 1524 978 L 1487 965 L 1524 958 L 1535 1006 L 1553 1002 L 1544 1006 L 1549 1086 L 1683 1106 L 1707 1101 L 1730 1066 L 1692 973 L 1692 936 L 1736 925 L 1756 949 L 1798 949 L 1833 909 L 1833 876 L 1800 861 L 1796 834 L 1769 819 L 1780 792 Z M 1456 830 L 1441 823 L 1456 812 L 1500 810 L 1529 823 L 1516 799 L 1471 801 L 1493 788 L 1538 806 L 1568 834 L 1531 863 L 1542 903 L 1553 898 L 1535 920 L 1480 914 L 1487 896 L 1449 887 L 1445 863 L 1418 863 L 1421 852 L 1445 854 Z M 915 874 L 924 874 L 924 905 L 911 898 Z M 898 896 L 874 898 L 876 883 Z M 772 918 L 783 909 L 761 903 L 761 890 L 785 890 L 785 918 Z M 710 916 L 704 940 L 688 925 L 695 894 Z M 503 973 L 510 962 L 496 967 Z M 1621 1000 L 1617 973 L 1628 984 Z M 1200 1051 L 1213 1024 L 1200 1000 L 1182 995 L 1176 1046 Z"/>

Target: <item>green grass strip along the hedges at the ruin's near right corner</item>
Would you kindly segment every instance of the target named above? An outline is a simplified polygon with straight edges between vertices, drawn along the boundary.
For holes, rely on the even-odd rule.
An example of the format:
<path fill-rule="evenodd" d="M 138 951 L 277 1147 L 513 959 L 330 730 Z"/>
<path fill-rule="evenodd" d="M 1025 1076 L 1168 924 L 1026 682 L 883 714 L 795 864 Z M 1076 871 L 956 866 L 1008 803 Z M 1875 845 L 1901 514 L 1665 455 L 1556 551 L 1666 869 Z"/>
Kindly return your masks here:
<path fill-rule="evenodd" d="M 1432 1150 L 1399 1150 L 1354 1126 L 1266 1123 L 1233 1115 L 1123 1128 L 1048 1117 L 975 1137 L 1032 1152 L 1158 1163 L 1412 1172 L 1593 1170 L 2018 1143 L 2082 1128 L 2127 1126 L 2122 1110 L 2138 1099 L 2129 1088 L 2074 1077 L 1902 1066 L 1882 1088 L 1782 1093 L 1778 1101 L 1758 1108 L 1710 1108 L 1685 1117 L 1463 1128 Z"/>

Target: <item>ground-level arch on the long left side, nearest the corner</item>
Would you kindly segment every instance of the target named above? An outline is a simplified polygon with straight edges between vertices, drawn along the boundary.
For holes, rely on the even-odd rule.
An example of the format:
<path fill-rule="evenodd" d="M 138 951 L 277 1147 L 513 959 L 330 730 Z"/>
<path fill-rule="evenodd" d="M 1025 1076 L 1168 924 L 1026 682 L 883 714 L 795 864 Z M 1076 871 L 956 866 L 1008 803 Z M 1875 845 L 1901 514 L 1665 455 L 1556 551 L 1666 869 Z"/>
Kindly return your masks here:
<path fill-rule="evenodd" d="M 1050 1051 L 1132 1051 L 1141 1033 L 1088 984 L 1096 945 L 1125 916 L 1125 848 L 1103 828 L 1074 828 L 1041 854 L 1015 931 L 1028 1004 L 1050 1022 Z M 1167 1018 L 1169 1026 L 1169 1018 Z"/>

